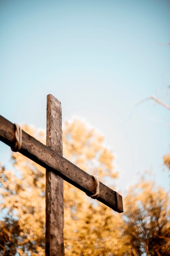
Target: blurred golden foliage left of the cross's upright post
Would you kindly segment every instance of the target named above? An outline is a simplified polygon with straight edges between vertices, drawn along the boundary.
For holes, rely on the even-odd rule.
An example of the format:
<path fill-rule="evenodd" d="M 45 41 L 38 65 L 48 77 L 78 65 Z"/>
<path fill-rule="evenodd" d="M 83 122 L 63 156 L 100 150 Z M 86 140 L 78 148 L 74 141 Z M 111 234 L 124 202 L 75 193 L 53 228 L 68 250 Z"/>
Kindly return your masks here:
<path fill-rule="evenodd" d="M 23 129 L 44 139 L 42 132 L 35 132 L 28 126 L 23 126 Z M 15 245 L 19 255 L 42 256 L 45 246 L 45 171 L 20 153 L 12 153 L 12 159 L 15 170 L 0 169 L 1 200 L 3 198 L 0 207 L 5 209 L 10 220 L 17 221 L 19 230 L 16 243 L 12 239 L 16 231 L 15 223 L 11 223 L 11 231 L 7 228 L 11 232 L 8 246 Z M 4 245 L 7 247 L 7 243 Z M 4 255 L 9 255 L 7 250 Z"/>

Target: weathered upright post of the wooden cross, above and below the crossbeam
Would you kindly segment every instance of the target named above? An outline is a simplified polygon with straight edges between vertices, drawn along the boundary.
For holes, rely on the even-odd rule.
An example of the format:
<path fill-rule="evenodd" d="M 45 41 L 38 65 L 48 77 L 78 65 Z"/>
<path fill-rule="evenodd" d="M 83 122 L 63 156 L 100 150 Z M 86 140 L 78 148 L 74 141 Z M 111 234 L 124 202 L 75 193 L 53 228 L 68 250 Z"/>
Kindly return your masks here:
<path fill-rule="evenodd" d="M 61 102 L 47 95 L 46 145 L 63 155 Z M 46 256 L 64 256 L 63 179 L 46 170 Z"/>

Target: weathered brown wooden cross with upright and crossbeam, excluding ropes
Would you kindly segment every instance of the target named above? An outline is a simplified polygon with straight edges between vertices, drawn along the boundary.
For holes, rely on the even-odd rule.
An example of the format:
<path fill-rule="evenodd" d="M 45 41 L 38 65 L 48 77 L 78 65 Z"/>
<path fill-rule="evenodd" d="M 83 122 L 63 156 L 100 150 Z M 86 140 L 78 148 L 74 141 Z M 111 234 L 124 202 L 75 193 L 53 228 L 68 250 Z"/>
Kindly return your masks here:
<path fill-rule="evenodd" d="M 46 256 L 64 256 L 63 180 L 87 194 L 95 193 L 91 175 L 65 159 L 62 150 L 61 103 L 47 95 L 46 146 L 22 131 L 19 152 L 46 168 Z M 0 140 L 14 146 L 14 124 L 0 116 Z M 100 182 L 98 201 L 114 211 L 123 212 L 122 196 Z"/>

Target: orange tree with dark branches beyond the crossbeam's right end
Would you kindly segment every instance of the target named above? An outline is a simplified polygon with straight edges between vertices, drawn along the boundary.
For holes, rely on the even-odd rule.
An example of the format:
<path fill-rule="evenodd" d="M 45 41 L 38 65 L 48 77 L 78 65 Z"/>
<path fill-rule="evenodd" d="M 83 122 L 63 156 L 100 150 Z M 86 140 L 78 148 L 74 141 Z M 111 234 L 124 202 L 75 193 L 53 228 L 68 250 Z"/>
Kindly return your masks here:
<path fill-rule="evenodd" d="M 125 255 L 170 255 L 170 198 L 144 178 L 125 198 L 124 235 L 131 245 Z"/>

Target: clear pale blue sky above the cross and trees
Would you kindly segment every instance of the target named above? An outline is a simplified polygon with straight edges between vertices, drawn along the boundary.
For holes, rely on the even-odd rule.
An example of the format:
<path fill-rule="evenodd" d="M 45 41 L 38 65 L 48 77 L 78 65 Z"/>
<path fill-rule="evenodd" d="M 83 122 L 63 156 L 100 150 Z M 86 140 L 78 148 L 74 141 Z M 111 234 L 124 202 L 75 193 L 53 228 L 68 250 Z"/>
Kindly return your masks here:
<path fill-rule="evenodd" d="M 0 114 L 46 128 L 46 95 L 63 121 L 83 117 L 113 150 L 124 190 L 137 171 L 169 189 L 169 0 L 0 0 Z M 129 116 L 130 115 L 130 116 Z M 0 142 L 0 161 L 10 166 Z"/>

